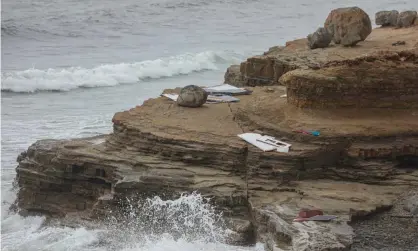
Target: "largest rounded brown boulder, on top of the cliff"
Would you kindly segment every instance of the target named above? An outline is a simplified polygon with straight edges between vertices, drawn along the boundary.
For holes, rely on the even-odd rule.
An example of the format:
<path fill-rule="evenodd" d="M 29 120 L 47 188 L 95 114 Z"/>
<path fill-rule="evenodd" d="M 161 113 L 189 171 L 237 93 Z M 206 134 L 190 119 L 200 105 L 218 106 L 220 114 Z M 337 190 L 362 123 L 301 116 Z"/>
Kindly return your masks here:
<path fill-rule="evenodd" d="M 324 27 L 333 34 L 336 44 L 353 46 L 372 32 L 369 16 L 359 7 L 338 8 L 328 15 Z"/>

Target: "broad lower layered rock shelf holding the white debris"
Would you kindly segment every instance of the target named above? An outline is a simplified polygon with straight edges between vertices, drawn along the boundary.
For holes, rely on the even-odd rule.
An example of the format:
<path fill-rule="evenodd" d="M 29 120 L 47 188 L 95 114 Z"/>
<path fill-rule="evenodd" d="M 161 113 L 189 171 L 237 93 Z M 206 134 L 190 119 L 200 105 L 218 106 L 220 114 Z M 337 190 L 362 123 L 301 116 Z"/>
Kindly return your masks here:
<path fill-rule="evenodd" d="M 389 208 L 418 186 L 418 110 L 303 110 L 284 93 L 282 86 L 255 87 L 239 103 L 193 109 L 160 97 L 116 113 L 110 135 L 38 141 L 18 158 L 17 205 L 100 218 L 127 197 L 198 191 L 236 222 L 235 242 L 348 249 L 354 232 L 347 222 Z M 254 130 L 291 143 L 291 151 L 262 152 L 237 137 Z M 309 207 L 339 218 L 292 222 Z"/>

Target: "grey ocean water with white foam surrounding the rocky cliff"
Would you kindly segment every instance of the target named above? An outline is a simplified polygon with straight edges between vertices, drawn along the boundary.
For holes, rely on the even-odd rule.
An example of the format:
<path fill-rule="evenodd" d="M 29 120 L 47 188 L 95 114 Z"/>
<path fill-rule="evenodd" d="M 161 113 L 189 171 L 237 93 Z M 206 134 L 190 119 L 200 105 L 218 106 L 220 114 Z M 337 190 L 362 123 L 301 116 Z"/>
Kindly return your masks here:
<path fill-rule="evenodd" d="M 124 231 L 111 220 L 69 228 L 20 217 L 9 211 L 16 157 L 39 139 L 108 133 L 115 112 L 165 88 L 220 84 L 230 64 L 305 37 L 331 9 L 346 6 L 361 7 L 374 21 L 376 11 L 418 9 L 418 2 L 3 0 L 1 249 L 262 250 L 224 244 L 220 216 L 198 194 L 149 198 L 147 212 L 166 217 L 158 226 L 163 234 L 144 228 L 140 215 L 147 212 L 132 213 L 134 224 Z M 164 205 L 172 211 L 161 211 Z"/>

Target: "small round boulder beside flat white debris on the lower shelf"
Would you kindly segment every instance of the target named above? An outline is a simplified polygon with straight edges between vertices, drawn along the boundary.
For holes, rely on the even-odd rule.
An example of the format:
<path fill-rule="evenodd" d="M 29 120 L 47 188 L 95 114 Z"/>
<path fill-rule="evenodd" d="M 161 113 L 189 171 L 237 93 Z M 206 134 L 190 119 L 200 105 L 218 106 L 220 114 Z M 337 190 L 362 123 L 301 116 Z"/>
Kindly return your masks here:
<path fill-rule="evenodd" d="M 208 99 L 208 93 L 196 85 L 188 85 L 181 89 L 177 104 L 184 107 L 200 107 Z"/>

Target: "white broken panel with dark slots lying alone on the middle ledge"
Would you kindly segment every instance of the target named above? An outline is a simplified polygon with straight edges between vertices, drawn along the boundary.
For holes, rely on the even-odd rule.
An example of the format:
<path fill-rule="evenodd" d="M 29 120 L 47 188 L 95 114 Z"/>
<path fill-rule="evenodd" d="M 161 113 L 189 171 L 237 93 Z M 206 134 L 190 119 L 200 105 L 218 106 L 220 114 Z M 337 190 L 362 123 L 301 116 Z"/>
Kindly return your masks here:
<path fill-rule="evenodd" d="M 261 149 L 264 152 L 274 151 L 287 153 L 290 150 L 291 144 L 277 140 L 274 137 L 261 135 L 258 133 L 243 133 L 238 137 Z"/>

